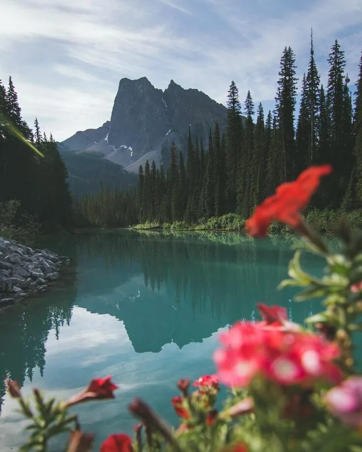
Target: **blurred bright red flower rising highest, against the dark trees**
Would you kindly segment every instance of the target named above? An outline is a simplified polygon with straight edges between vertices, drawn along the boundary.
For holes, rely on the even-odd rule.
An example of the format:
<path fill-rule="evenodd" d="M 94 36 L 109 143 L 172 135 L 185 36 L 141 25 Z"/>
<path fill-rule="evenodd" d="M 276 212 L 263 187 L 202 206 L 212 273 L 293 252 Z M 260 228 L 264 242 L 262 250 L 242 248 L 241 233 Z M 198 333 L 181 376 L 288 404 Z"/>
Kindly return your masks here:
<path fill-rule="evenodd" d="M 247 233 L 252 237 L 265 237 L 272 221 L 279 221 L 293 228 L 301 226 L 300 211 L 307 206 L 317 190 L 320 178 L 331 171 L 330 165 L 310 167 L 294 182 L 281 184 L 275 195 L 256 207 L 253 216 L 245 224 Z"/>

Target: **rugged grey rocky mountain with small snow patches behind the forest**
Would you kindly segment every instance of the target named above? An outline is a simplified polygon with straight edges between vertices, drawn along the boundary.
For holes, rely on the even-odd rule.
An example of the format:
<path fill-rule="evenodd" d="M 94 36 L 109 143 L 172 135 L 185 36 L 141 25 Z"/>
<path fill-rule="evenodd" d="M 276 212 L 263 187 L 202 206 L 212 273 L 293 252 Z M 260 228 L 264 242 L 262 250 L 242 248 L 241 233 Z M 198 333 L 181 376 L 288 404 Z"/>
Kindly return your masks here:
<path fill-rule="evenodd" d="M 207 145 L 215 121 L 224 130 L 226 119 L 226 107 L 202 91 L 184 89 L 173 80 L 162 91 L 146 77 L 124 78 L 120 81 L 111 120 L 98 129 L 77 132 L 61 144 L 66 149 L 74 149 L 76 154 L 98 153 L 102 160 L 136 173 L 147 159 L 167 166 L 172 141 L 185 154 L 189 127 L 191 134 L 202 138 Z"/>

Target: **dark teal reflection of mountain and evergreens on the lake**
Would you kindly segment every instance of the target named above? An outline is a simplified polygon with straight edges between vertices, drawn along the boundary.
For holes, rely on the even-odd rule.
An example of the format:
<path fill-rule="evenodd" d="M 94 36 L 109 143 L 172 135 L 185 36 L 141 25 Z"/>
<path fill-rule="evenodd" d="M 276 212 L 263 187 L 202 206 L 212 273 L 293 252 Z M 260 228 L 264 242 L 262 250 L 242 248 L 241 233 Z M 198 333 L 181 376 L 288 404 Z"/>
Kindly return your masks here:
<path fill-rule="evenodd" d="M 297 321 L 315 309 L 276 290 L 291 256 L 284 240 L 121 231 L 44 245 L 71 256 L 73 268 L 56 290 L 0 314 L 0 377 L 20 385 L 35 367 L 42 375 L 49 332 L 61 334 L 74 305 L 120 320 L 136 353 L 202 342 L 238 319 L 256 318 L 258 301 L 286 306 Z"/>

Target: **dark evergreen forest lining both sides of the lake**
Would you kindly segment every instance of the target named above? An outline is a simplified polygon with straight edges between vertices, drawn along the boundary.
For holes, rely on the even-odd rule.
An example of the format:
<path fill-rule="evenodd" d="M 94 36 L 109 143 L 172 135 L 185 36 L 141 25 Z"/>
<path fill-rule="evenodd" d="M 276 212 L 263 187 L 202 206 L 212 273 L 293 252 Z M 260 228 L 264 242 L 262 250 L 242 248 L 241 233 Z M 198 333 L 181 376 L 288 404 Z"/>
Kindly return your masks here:
<path fill-rule="evenodd" d="M 362 57 L 356 89 L 337 40 L 328 65 L 324 86 L 311 38 L 297 112 L 296 57 L 285 47 L 273 111 L 265 112 L 261 103 L 255 105 L 250 91 L 241 100 L 237 85 L 231 82 L 225 130 L 215 123 L 207 143 L 189 130 L 186 149 L 171 145 L 168 168 L 157 168 L 154 161 L 139 167 L 136 190 L 115 189 L 104 181 L 98 193 L 73 200 L 56 141 L 51 134 L 48 138 L 41 133 L 37 119 L 32 130 L 22 119 L 10 77 L 7 86 L 0 82 L 0 207 L 16 200 L 20 207 L 15 222 L 30 215 L 45 230 L 175 222 L 198 225 L 225 214 L 244 220 L 279 184 L 311 165 L 330 163 L 333 173 L 312 206 L 329 212 L 359 211 Z M 39 153 L 31 151 L 29 143 Z"/>

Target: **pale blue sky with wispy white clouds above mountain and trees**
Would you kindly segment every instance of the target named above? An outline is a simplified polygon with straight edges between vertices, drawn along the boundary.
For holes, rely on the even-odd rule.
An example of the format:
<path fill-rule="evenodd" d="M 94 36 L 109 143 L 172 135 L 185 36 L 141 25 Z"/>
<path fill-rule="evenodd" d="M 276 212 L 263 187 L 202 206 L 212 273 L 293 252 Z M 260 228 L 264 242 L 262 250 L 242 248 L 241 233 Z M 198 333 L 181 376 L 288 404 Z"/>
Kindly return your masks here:
<path fill-rule="evenodd" d="M 12 76 L 24 119 L 58 141 L 110 119 L 123 77 L 173 79 L 223 104 L 234 80 L 267 111 L 285 46 L 302 79 L 311 27 L 322 82 L 338 39 L 355 83 L 361 0 L 1 0 L 0 79 Z"/>

